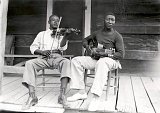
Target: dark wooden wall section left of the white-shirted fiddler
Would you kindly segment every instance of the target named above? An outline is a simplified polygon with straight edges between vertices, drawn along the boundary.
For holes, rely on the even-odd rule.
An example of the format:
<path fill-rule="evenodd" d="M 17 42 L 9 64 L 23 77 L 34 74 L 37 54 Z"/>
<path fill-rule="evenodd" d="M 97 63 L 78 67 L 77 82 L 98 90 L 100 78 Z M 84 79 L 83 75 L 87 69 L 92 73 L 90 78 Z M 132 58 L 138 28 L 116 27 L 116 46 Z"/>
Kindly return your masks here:
<path fill-rule="evenodd" d="M 14 35 L 15 54 L 31 54 L 29 46 L 46 28 L 46 0 L 9 0 L 7 35 Z M 15 58 L 18 63 L 23 59 Z"/>

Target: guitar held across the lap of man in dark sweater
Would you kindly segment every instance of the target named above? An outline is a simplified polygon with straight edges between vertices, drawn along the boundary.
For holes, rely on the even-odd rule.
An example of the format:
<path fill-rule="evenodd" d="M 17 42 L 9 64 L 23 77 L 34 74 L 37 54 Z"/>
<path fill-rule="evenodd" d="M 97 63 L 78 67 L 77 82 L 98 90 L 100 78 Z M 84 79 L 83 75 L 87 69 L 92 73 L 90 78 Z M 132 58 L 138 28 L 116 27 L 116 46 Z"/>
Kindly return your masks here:
<path fill-rule="evenodd" d="M 106 57 L 106 56 L 103 56 L 103 55 L 100 55 L 100 54 L 107 54 L 108 57 L 111 57 L 115 53 L 114 48 L 103 49 L 102 47 L 98 47 L 99 46 L 98 42 L 96 40 L 93 40 L 93 39 L 88 41 L 88 45 L 89 45 L 90 49 L 89 50 L 86 49 L 84 55 L 85 56 L 91 56 L 95 60 L 99 60 L 102 57 Z M 97 54 L 92 54 L 91 51 L 96 51 Z"/>

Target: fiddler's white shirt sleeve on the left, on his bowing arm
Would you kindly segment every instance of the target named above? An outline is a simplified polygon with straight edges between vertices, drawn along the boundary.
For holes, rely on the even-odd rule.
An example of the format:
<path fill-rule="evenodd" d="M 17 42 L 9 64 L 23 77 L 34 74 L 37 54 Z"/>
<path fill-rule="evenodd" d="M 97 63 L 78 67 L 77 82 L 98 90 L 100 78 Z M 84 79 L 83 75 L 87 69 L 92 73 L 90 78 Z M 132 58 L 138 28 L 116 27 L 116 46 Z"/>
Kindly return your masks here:
<path fill-rule="evenodd" d="M 42 32 L 38 33 L 38 35 L 36 36 L 36 38 L 34 39 L 33 43 L 30 46 L 30 51 L 32 54 L 34 54 L 35 50 L 40 49 L 41 35 Z"/>

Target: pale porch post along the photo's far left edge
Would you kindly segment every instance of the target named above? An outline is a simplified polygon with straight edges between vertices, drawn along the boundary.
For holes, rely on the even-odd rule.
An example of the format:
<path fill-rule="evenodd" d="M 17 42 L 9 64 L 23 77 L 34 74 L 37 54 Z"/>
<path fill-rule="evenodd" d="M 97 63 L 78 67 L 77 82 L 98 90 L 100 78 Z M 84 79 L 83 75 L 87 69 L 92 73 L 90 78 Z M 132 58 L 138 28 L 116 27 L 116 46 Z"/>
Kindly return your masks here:
<path fill-rule="evenodd" d="M 2 94 L 1 89 L 3 79 L 8 2 L 9 0 L 0 0 L 0 94 Z"/>

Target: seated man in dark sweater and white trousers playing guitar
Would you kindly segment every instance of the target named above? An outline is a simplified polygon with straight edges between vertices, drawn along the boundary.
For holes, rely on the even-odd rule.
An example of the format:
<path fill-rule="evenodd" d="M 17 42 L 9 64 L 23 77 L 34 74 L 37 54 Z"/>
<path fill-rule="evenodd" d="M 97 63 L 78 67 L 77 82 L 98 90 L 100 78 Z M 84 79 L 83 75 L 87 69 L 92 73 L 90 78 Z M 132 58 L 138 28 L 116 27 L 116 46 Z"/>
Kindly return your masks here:
<path fill-rule="evenodd" d="M 87 98 L 84 69 L 95 69 L 95 78 L 91 88 L 93 98 L 88 107 L 89 111 L 97 110 L 99 97 L 102 95 L 108 72 L 120 68 L 119 60 L 124 57 L 123 38 L 113 29 L 114 24 L 115 15 L 107 13 L 104 17 L 103 29 L 93 32 L 83 40 L 83 46 L 88 51 L 89 56 L 78 56 L 71 61 L 70 87 L 78 89 L 78 93 L 68 97 L 68 101 Z M 112 49 L 110 50 L 110 48 Z"/>

